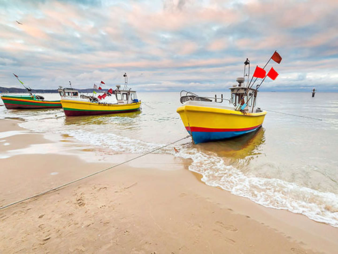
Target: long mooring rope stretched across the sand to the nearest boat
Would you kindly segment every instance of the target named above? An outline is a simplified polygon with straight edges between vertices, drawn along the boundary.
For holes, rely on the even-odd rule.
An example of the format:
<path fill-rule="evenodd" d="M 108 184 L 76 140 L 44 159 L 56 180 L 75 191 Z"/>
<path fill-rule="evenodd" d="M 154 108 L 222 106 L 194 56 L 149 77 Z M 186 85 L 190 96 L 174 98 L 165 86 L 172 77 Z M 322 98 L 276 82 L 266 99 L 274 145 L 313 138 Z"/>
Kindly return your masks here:
<path fill-rule="evenodd" d="M 178 140 L 176 140 L 176 141 L 174 141 L 174 142 L 171 142 L 171 143 L 169 143 L 169 144 L 167 144 L 167 145 L 165 145 L 165 146 L 162 146 L 162 147 L 160 147 L 160 148 L 153 149 L 153 150 L 151 150 L 151 151 L 149 151 L 149 152 L 143 153 L 143 154 L 138 155 L 138 156 L 136 156 L 136 157 L 134 157 L 134 158 L 131 158 L 131 159 L 127 160 L 127 161 L 124 161 L 124 162 L 121 162 L 121 163 L 119 163 L 119 164 L 116 164 L 116 165 L 114 165 L 114 166 L 111 166 L 111 167 L 102 169 L 102 170 L 100 170 L 100 171 L 94 172 L 94 173 L 89 174 L 89 175 L 86 175 L 86 176 L 82 176 L 82 177 L 80 177 L 80 178 L 78 178 L 78 179 L 75 179 L 75 180 L 73 180 L 73 181 L 71 181 L 71 182 L 68 182 L 68 183 L 65 183 L 65 184 L 56 186 L 56 187 L 54 187 L 53 189 L 46 190 L 46 191 L 44 191 L 44 192 L 41 192 L 41 193 L 32 195 L 32 196 L 30 196 L 30 197 L 23 198 L 23 199 L 21 199 L 21 200 L 18 200 L 18 201 L 16 201 L 16 202 L 10 203 L 10 204 L 8 204 L 8 205 L 2 206 L 2 207 L 0 207 L 0 210 L 5 209 L 5 208 L 10 207 L 10 206 L 13 206 L 13 205 L 15 205 L 15 204 L 24 202 L 24 201 L 26 201 L 26 200 L 28 200 L 28 199 L 32 199 L 32 198 L 34 198 L 34 197 L 42 196 L 42 195 L 44 195 L 44 194 L 46 194 L 46 193 L 49 193 L 49 192 L 55 191 L 55 190 L 57 190 L 57 189 L 60 189 L 60 188 L 62 188 L 62 187 L 65 187 L 65 186 L 67 186 L 67 185 L 76 183 L 76 182 L 81 181 L 81 180 L 83 180 L 83 179 L 85 179 L 85 178 L 88 178 L 88 177 L 91 177 L 91 176 L 93 176 L 93 175 L 102 173 L 102 172 L 104 172 L 104 171 L 107 171 L 107 170 L 109 170 L 109 169 L 115 168 L 115 167 L 120 166 L 120 165 L 122 165 L 122 164 L 125 164 L 125 163 L 127 163 L 127 162 L 134 161 L 134 160 L 136 160 L 136 159 L 138 159 L 138 158 L 140 158 L 140 157 L 143 157 L 143 156 L 145 156 L 145 155 L 147 155 L 147 154 L 149 154 L 149 153 L 152 153 L 152 152 L 155 152 L 155 151 L 160 150 L 160 149 L 162 149 L 162 148 L 165 148 L 165 147 L 167 147 L 167 146 L 170 146 L 170 145 L 172 145 L 172 144 L 174 144 L 174 143 L 177 143 L 178 141 L 187 139 L 188 137 L 190 137 L 190 135 L 187 135 L 187 136 L 185 136 L 185 137 L 182 137 L 181 139 L 178 139 Z"/>

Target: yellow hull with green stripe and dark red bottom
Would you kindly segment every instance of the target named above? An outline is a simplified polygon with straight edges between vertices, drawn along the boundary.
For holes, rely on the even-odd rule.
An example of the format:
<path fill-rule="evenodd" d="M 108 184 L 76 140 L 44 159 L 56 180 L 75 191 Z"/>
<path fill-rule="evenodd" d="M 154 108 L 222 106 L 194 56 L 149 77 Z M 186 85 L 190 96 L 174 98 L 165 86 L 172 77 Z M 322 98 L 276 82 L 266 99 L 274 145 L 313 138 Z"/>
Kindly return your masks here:
<path fill-rule="evenodd" d="M 67 117 L 135 112 L 140 110 L 141 106 L 141 102 L 130 104 L 98 104 L 69 99 L 61 99 L 61 104 Z"/>

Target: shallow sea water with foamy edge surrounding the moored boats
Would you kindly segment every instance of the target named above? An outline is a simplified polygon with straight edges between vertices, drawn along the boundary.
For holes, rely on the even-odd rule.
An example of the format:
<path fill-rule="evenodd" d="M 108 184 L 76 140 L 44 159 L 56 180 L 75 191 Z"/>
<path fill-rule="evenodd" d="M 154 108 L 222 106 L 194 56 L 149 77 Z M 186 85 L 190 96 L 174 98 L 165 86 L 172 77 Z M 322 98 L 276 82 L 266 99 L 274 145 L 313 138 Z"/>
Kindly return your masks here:
<path fill-rule="evenodd" d="M 145 153 L 188 134 L 176 113 L 178 92 L 138 97 L 142 110 L 134 113 L 65 118 L 62 109 L 1 106 L 0 118 L 23 118 L 22 127 L 68 134 L 102 153 Z M 260 92 L 258 99 L 262 109 L 286 114 L 268 111 L 262 128 L 235 139 L 198 145 L 185 139 L 174 145 L 178 153 L 173 146 L 156 152 L 191 159 L 189 170 L 207 185 L 338 227 L 338 93 Z"/>

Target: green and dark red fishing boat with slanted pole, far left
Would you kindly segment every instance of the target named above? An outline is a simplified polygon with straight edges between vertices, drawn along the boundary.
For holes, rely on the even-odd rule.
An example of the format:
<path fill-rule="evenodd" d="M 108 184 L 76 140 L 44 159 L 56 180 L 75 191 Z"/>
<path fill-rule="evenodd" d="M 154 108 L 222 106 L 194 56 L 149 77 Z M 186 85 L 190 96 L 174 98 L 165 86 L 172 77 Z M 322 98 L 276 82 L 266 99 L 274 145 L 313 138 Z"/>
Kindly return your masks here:
<path fill-rule="evenodd" d="M 14 76 L 19 80 L 17 75 L 14 74 Z M 45 100 L 43 96 L 33 94 L 30 87 L 26 87 L 21 80 L 19 81 L 28 91 L 29 95 L 1 94 L 1 100 L 7 109 L 41 109 L 62 107 L 60 100 Z"/>

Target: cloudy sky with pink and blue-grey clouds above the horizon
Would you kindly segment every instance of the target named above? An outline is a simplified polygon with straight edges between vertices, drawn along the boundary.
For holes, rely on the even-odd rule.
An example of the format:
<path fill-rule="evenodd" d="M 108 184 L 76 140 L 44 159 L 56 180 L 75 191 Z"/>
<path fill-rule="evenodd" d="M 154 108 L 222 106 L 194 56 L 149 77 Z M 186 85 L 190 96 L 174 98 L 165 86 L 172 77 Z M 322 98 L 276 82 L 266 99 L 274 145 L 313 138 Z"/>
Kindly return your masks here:
<path fill-rule="evenodd" d="M 0 0 L 0 31 L 4 87 L 224 90 L 277 50 L 261 90 L 338 91 L 337 0 Z"/>

